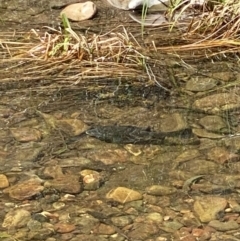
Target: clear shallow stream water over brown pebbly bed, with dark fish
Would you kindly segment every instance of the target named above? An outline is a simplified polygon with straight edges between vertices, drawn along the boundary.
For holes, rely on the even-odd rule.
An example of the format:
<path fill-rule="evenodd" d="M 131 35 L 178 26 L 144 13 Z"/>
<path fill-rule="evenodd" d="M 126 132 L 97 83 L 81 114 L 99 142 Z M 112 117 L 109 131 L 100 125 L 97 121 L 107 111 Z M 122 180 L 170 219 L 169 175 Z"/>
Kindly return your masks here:
<path fill-rule="evenodd" d="M 56 26 L 57 10 L 46 6 L 41 1 L 20 24 L 21 8 L 4 5 L 1 11 L 10 12 L 1 15 L 1 39 L 12 29 Z M 124 23 L 139 37 L 140 26 L 126 16 L 104 5 L 85 25 L 95 32 L 100 23 L 105 31 L 111 17 L 112 26 Z M 143 41 L 154 31 L 146 29 Z M 149 53 L 155 81 L 141 67 L 133 76 L 124 64 L 13 60 L 6 48 L 1 54 L 0 237 L 239 238 L 240 71 L 234 56 L 181 61 Z M 132 191 L 110 192 L 117 187 Z"/>

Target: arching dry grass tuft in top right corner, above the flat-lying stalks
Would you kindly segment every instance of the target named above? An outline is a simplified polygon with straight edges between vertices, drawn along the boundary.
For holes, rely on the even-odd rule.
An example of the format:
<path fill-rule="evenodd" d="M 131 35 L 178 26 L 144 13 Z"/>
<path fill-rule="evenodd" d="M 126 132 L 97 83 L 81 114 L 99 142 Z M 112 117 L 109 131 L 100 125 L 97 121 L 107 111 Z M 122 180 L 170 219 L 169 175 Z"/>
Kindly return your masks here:
<path fill-rule="evenodd" d="M 195 0 L 198 2 L 198 0 Z M 202 5 L 194 5 L 194 0 L 170 0 L 167 16 L 172 25 L 187 23 L 188 36 L 202 39 L 239 39 L 240 1 L 204 0 Z"/>

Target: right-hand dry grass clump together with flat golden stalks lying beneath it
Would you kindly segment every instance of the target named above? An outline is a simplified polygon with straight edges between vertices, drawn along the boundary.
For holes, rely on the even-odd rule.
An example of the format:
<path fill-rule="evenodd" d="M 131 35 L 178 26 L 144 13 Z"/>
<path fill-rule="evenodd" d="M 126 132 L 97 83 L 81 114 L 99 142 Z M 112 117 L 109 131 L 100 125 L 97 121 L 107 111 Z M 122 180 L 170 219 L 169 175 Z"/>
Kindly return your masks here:
<path fill-rule="evenodd" d="M 239 0 L 205 0 L 201 9 L 191 8 L 191 4 L 184 5 L 181 1 L 173 1 L 169 13 L 175 19 L 170 25 L 182 26 L 182 39 L 187 44 L 172 46 L 157 46 L 155 51 L 162 51 L 179 55 L 181 58 L 194 56 L 194 58 L 210 58 L 216 55 L 240 52 L 240 1 Z M 179 6 L 174 4 L 178 3 Z M 181 5 L 181 6 L 180 6 Z M 183 5 L 183 6 L 182 6 Z M 175 9 L 179 9 L 176 13 Z M 187 21 L 185 17 L 191 15 Z M 194 13 L 194 14 L 193 14 Z M 175 15 L 175 16 L 174 16 Z M 182 24 L 182 21 L 184 24 Z M 181 25 L 182 24 L 182 25 Z M 170 28 L 171 28 L 170 27 Z"/>

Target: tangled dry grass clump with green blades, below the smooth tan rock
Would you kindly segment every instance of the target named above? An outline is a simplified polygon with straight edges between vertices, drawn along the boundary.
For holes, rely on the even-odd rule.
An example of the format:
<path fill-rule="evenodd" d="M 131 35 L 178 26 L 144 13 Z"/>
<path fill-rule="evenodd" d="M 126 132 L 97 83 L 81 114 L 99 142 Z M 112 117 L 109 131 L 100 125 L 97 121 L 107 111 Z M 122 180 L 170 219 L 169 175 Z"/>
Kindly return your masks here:
<path fill-rule="evenodd" d="M 64 34 L 51 30 L 53 34 L 46 32 L 44 36 L 38 35 L 33 30 L 40 44 L 28 51 L 32 57 L 45 60 L 65 58 L 136 65 L 142 65 L 147 58 L 138 51 L 140 45 L 123 26 L 104 35 L 91 36 L 76 34 L 71 28 Z"/>

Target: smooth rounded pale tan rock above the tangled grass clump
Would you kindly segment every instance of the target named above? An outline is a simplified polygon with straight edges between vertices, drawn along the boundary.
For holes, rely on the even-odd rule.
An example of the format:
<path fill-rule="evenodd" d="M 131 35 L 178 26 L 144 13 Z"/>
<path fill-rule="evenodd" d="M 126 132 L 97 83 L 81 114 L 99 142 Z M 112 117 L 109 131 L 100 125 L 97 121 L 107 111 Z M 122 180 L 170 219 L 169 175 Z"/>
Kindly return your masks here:
<path fill-rule="evenodd" d="M 83 21 L 92 18 L 96 11 L 96 5 L 91 1 L 87 1 L 68 5 L 60 15 L 65 14 L 67 18 L 73 21 Z"/>

